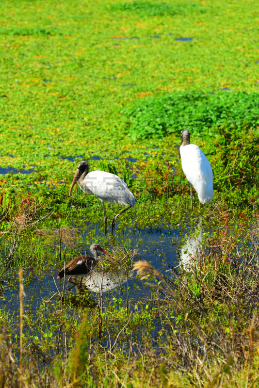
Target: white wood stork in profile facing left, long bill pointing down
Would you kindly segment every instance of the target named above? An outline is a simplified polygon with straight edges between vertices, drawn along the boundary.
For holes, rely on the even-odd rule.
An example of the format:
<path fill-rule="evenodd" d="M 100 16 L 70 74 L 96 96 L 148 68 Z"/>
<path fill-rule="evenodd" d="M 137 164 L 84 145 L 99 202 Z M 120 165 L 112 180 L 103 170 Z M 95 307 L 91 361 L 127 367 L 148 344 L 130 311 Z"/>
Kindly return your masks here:
<path fill-rule="evenodd" d="M 118 216 L 136 204 L 134 195 L 129 191 L 127 184 L 120 177 L 115 174 L 99 170 L 91 171 L 89 173 L 87 161 L 82 161 L 77 166 L 77 171 L 72 181 L 69 195 L 71 195 L 72 189 L 76 183 L 78 183 L 79 187 L 85 194 L 95 194 L 102 202 L 105 235 L 107 232 L 107 218 L 104 202 L 119 203 L 120 205 L 128 206 L 128 208 L 122 210 L 114 216 L 112 222 L 112 234 Z"/>

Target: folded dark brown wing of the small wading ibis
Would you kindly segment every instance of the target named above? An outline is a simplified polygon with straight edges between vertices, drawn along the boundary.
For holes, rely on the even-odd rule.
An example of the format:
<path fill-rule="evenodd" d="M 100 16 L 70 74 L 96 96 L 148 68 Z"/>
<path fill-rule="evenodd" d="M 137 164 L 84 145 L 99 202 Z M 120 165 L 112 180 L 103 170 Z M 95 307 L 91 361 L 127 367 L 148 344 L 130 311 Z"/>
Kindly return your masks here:
<path fill-rule="evenodd" d="M 86 275 L 96 265 L 96 260 L 91 256 L 78 256 L 65 266 L 65 275 Z M 64 277 L 64 268 L 59 271 L 58 279 Z"/>

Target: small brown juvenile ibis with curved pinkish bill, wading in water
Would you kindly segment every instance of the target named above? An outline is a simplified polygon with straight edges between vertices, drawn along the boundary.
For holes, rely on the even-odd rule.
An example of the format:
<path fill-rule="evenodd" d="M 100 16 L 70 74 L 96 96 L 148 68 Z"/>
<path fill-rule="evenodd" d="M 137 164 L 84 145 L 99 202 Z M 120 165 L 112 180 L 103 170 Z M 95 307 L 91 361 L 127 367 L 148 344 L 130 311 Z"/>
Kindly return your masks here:
<path fill-rule="evenodd" d="M 82 278 L 85 275 L 87 275 L 90 271 L 92 271 L 92 269 L 97 265 L 97 261 L 99 259 L 97 250 L 105 253 L 105 255 L 108 255 L 114 264 L 114 261 L 112 257 L 109 255 L 109 253 L 107 253 L 104 249 L 102 249 L 100 245 L 98 245 L 97 243 L 94 243 L 90 246 L 90 252 L 94 257 L 89 255 L 81 255 L 71 260 L 70 263 L 68 263 L 65 266 L 65 276 L 69 276 L 68 281 L 70 283 L 76 284 L 70 279 L 72 276 L 80 275 L 81 276 L 80 287 L 81 287 Z M 64 268 L 59 271 L 57 279 L 60 279 L 62 277 L 64 277 Z"/>

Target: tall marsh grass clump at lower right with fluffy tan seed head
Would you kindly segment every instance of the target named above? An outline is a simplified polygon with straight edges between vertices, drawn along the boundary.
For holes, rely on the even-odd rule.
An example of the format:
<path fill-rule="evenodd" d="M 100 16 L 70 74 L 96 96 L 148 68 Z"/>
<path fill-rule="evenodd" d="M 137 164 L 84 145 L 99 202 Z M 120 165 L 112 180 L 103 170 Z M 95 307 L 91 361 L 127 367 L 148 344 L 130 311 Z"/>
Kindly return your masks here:
<path fill-rule="evenodd" d="M 188 270 L 180 269 L 173 280 L 146 261 L 133 266 L 142 280 L 159 280 L 150 286 L 157 291 L 161 323 L 168 330 L 160 347 L 167 369 L 187 373 L 200 387 L 236 386 L 239 373 L 246 374 L 246 387 L 253 381 L 249 370 L 258 343 L 259 223 L 249 232 L 242 215 L 232 230 L 228 214 L 221 209 L 220 227 L 200 243 Z"/>

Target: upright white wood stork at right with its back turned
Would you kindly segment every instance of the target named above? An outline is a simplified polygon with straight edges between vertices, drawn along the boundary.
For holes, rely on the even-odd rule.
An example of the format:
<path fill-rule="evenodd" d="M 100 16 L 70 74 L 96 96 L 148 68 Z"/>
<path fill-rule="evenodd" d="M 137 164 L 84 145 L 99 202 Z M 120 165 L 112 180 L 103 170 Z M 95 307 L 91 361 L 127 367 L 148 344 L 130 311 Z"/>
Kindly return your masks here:
<path fill-rule="evenodd" d="M 191 210 L 193 210 L 193 190 L 198 194 L 199 209 L 201 203 L 209 203 L 213 198 L 213 173 L 210 162 L 202 150 L 190 144 L 190 132 L 188 129 L 181 131 L 180 146 L 182 170 L 190 182 Z"/>

